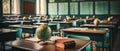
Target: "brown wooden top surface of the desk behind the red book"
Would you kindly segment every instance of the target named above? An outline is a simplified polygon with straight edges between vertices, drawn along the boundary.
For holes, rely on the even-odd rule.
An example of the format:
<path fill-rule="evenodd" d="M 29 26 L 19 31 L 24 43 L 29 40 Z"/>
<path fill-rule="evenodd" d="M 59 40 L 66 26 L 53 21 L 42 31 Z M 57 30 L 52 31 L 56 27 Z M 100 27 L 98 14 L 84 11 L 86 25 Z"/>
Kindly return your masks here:
<path fill-rule="evenodd" d="M 92 34 L 106 34 L 108 30 L 89 29 L 89 28 L 65 28 L 65 32 L 79 32 L 79 33 L 92 33 Z"/>

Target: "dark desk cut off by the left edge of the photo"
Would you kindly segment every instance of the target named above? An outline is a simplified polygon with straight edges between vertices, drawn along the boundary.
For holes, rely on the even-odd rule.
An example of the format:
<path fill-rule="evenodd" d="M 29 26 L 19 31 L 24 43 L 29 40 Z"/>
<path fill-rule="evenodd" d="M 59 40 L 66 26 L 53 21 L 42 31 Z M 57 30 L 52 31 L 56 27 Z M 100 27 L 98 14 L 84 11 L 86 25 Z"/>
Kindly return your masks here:
<path fill-rule="evenodd" d="M 0 42 L 2 43 L 3 51 L 5 50 L 5 42 L 16 40 L 17 30 L 0 29 Z"/>

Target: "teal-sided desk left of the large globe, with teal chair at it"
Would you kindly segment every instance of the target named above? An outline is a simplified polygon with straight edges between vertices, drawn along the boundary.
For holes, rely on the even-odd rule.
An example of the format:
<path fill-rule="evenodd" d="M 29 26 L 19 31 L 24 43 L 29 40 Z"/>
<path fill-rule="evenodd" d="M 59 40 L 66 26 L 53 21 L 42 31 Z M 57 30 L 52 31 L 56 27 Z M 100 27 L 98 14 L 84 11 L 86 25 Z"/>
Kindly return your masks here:
<path fill-rule="evenodd" d="M 23 38 L 22 33 L 29 33 L 29 34 L 35 34 L 37 26 L 33 25 L 9 25 L 12 29 L 19 30 L 19 33 L 17 34 L 17 37 Z"/>

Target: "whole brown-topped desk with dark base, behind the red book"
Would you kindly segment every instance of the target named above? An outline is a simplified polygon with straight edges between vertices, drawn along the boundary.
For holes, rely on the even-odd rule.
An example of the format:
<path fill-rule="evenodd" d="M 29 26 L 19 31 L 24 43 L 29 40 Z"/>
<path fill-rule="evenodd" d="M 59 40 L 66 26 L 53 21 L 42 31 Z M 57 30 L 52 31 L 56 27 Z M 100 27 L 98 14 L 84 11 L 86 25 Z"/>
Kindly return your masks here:
<path fill-rule="evenodd" d="M 106 33 L 108 33 L 108 30 L 97 30 L 89 28 L 66 28 L 62 29 L 61 31 L 64 32 L 65 37 L 67 35 L 88 36 L 90 37 L 90 40 L 101 41 L 102 50 L 104 51 L 104 40 Z"/>

